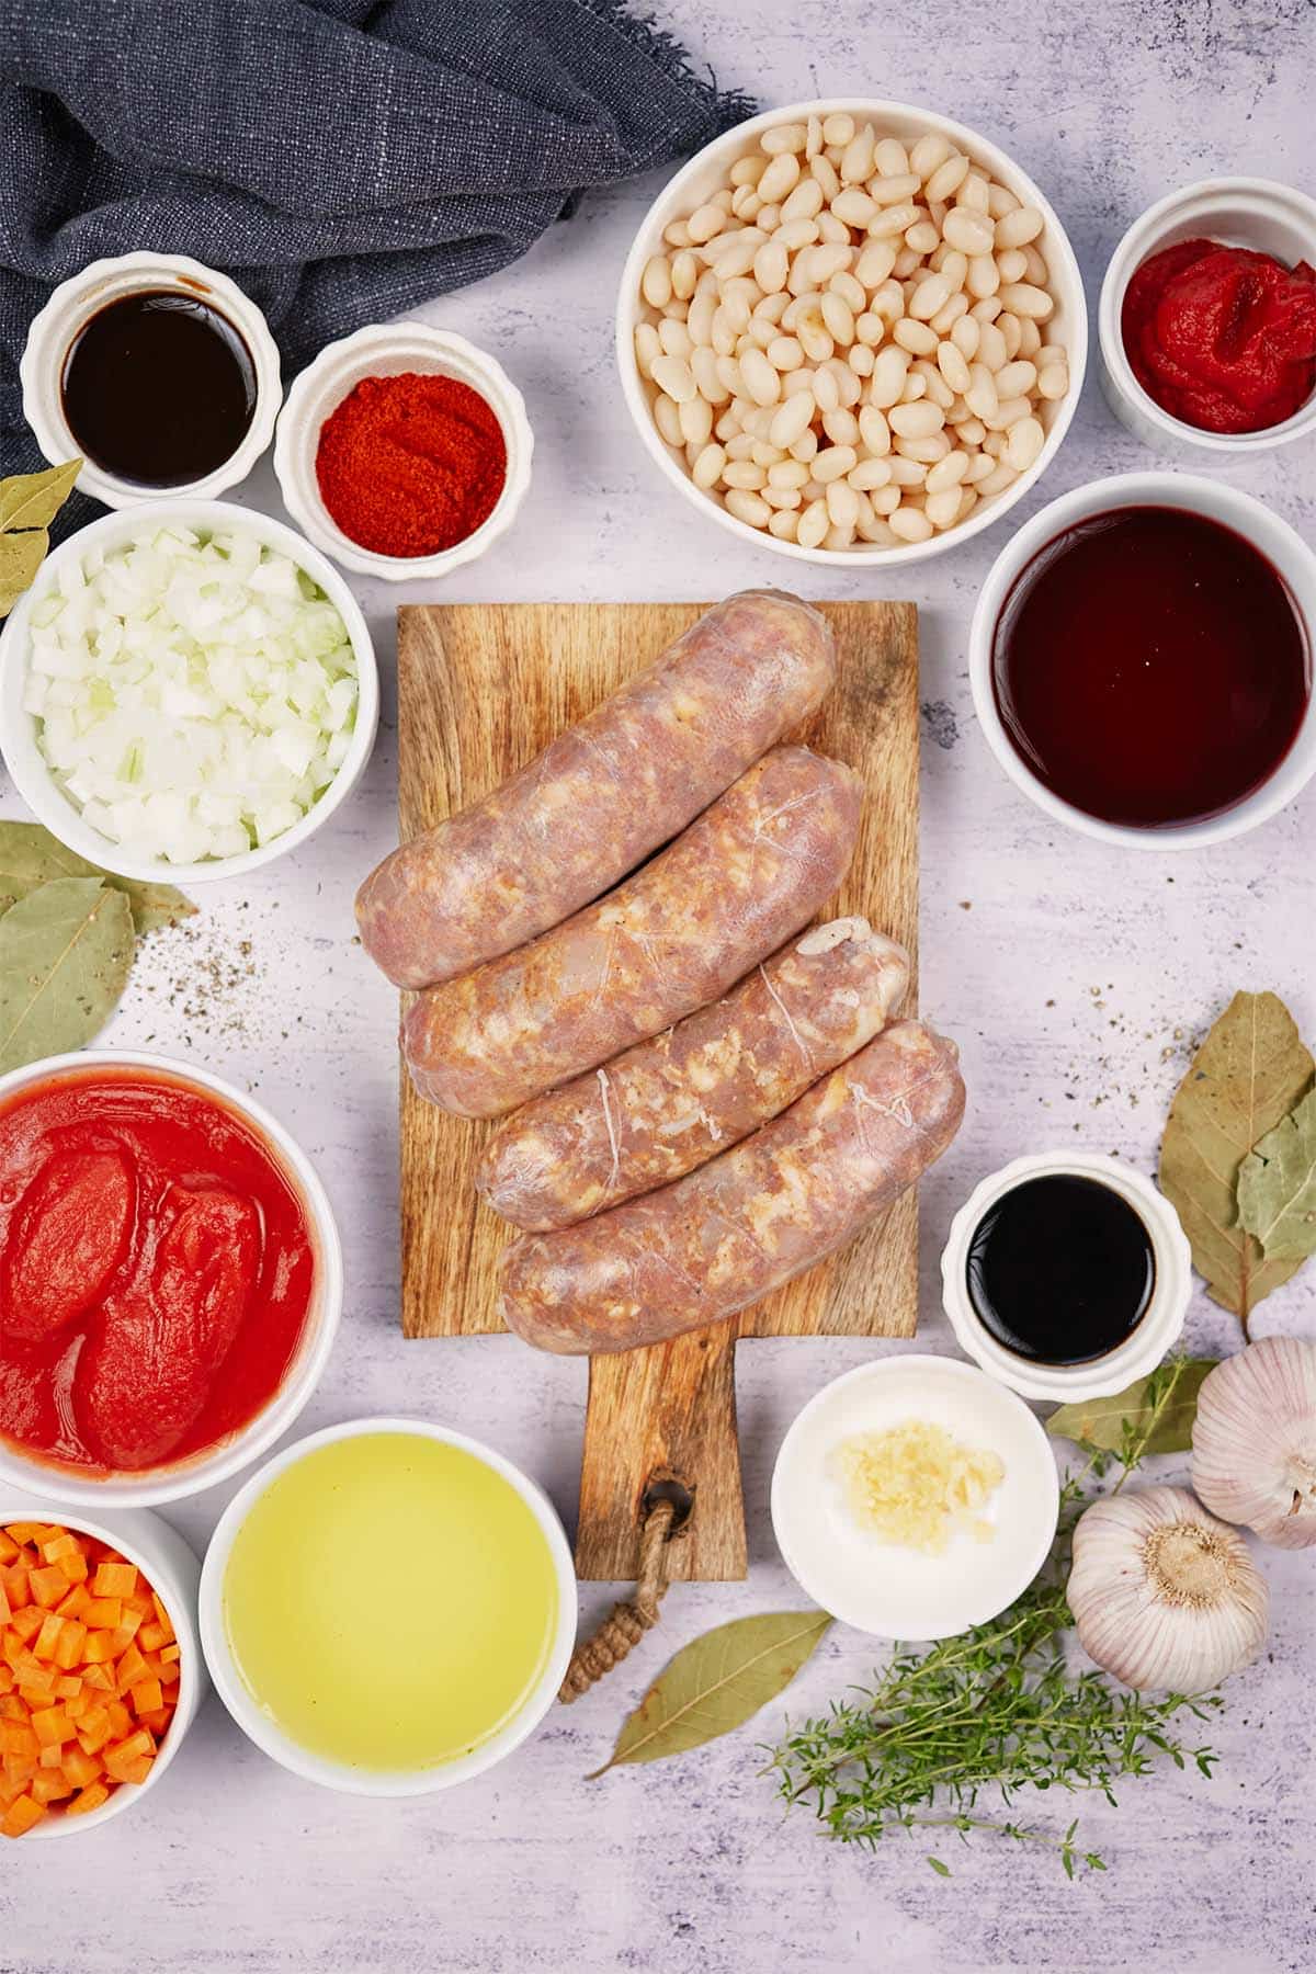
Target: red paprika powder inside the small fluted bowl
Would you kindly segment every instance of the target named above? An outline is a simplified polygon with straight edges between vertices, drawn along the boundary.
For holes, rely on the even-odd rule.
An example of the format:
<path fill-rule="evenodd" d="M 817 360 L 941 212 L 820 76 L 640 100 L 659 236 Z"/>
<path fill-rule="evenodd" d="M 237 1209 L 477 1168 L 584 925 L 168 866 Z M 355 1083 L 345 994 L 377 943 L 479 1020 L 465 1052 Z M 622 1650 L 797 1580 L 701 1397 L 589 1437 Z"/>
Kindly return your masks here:
<path fill-rule="evenodd" d="M 489 519 L 507 480 L 497 413 L 456 377 L 363 377 L 329 413 L 320 495 L 375 555 L 438 555 Z"/>

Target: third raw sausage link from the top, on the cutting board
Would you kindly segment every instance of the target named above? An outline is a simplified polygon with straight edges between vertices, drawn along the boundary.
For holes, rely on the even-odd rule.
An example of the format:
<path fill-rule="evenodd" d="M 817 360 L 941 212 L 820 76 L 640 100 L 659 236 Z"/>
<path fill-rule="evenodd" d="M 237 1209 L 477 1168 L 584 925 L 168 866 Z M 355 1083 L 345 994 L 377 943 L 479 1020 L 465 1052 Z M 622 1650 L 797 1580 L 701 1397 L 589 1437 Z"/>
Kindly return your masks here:
<path fill-rule="evenodd" d="M 519 1109 L 475 1188 L 531 1232 L 665 1186 L 793 1103 L 886 1026 L 910 957 L 866 918 L 815 926 L 724 1001 Z"/>

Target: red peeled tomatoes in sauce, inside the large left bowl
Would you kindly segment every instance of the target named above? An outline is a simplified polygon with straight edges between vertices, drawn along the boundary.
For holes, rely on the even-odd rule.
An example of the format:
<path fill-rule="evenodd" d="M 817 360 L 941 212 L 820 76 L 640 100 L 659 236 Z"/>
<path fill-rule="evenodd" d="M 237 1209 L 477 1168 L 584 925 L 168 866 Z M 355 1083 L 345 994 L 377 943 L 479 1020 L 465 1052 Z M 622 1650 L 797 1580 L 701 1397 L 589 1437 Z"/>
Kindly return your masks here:
<path fill-rule="evenodd" d="M 0 1105 L 0 1437 L 95 1473 L 205 1453 L 274 1396 L 308 1210 L 195 1084 L 77 1070 Z"/>

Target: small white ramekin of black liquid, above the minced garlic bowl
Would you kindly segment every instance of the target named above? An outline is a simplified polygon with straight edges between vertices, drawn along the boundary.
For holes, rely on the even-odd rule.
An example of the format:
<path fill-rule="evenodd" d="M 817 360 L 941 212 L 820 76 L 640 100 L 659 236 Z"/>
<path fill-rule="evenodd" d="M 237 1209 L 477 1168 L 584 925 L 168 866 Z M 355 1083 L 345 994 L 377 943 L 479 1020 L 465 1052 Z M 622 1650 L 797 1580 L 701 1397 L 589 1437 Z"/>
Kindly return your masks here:
<path fill-rule="evenodd" d="M 963 1350 L 1024 1398 L 1123 1392 L 1184 1327 L 1192 1255 L 1156 1186 L 1103 1153 L 1016 1159 L 985 1178 L 941 1255 Z"/>

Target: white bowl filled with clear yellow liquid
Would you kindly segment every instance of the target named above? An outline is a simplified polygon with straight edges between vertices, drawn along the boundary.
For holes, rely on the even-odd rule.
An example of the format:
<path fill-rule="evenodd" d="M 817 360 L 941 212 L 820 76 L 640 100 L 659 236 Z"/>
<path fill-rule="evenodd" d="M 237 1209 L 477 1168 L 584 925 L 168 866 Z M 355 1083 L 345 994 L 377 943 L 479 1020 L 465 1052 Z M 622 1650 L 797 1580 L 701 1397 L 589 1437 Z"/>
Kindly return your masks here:
<path fill-rule="evenodd" d="M 239 1727 L 355 1794 L 450 1788 L 545 1717 L 576 1636 L 562 1524 L 511 1461 L 418 1419 L 268 1461 L 201 1573 L 201 1644 Z"/>

